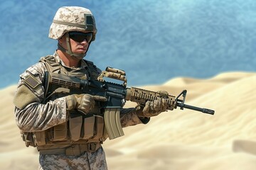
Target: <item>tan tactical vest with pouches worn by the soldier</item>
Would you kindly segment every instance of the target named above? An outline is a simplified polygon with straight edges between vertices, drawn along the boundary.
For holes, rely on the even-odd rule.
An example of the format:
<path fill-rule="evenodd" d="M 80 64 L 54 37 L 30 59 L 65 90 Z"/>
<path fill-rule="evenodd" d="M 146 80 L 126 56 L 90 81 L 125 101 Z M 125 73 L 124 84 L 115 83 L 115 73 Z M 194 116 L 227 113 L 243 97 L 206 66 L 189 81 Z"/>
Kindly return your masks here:
<path fill-rule="evenodd" d="M 79 69 L 80 71 L 77 72 L 74 71 L 75 69 L 63 67 L 53 56 L 42 57 L 40 60 L 46 65 L 48 72 L 65 74 L 79 79 L 87 79 L 87 77 L 97 79 L 100 74 L 97 67 L 92 62 L 84 61 L 87 67 Z M 53 84 L 45 84 L 47 90 L 44 101 L 46 103 L 70 94 L 82 94 L 80 89 L 70 89 L 70 94 L 53 94 L 53 91 L 58 87 Z M 83 151 L 94 152 L 107 139 L 103 116 L 99 113 L 100 103 L 96 101 L 95 108 L 87 115 L 72 111 L 69 113 L 70 118 L 67 122 L 41 132 L 33 132 L 32 134 L 24 132 L 23 140 L 25 140 L 27 147 L 29 145 L 37 147 L 41 154 L 70 154 L 68 152 L 71 152 L 73 155 L 73 152 L 78 152 L 77 154 L 81 154 Z M 73 149 L 75 147 L 76 149 Z"/>

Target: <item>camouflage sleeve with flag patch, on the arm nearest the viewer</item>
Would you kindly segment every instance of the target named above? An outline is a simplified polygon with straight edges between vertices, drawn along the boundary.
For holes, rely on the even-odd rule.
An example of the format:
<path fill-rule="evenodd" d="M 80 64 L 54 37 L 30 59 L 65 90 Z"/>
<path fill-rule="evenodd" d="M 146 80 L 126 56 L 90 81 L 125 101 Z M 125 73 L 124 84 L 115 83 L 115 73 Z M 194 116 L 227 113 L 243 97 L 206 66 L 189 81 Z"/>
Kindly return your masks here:
<path fill-rule="evenodd" d="M 25 132 L 46 130 L 67 121 L 65 98 L 43 104 L 46 67 L 37 63 L 21 74 L 14 96 L 18 128 Z"/>

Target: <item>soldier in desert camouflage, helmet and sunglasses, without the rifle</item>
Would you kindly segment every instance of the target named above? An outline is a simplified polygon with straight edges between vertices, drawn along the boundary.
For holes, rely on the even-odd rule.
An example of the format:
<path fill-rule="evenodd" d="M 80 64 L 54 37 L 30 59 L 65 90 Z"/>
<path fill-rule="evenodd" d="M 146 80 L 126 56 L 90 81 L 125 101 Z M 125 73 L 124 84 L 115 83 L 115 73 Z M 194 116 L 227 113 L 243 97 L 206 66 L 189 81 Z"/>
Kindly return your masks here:
<path fill-rule="evenodd" d="M 89 9 L 59 8 L 49 31 L 49 38 L 58 40 L 58 49 L 20 76 L 14 96 L 16 124 L 26 147 L 37 147 L 39 169 L 107 169 L 102 149 L 107 132 L 100 112 L 106 98 L 79 90 L 56 93 L 56 87 L 46 82 L 46 72 L 97 79 L 100 69 L 83 59 L 96 33 Z M 144 107 L 122 108 L 122 128 L 146 124 L 163 111 L 166 103 L 160 98 Z"/>

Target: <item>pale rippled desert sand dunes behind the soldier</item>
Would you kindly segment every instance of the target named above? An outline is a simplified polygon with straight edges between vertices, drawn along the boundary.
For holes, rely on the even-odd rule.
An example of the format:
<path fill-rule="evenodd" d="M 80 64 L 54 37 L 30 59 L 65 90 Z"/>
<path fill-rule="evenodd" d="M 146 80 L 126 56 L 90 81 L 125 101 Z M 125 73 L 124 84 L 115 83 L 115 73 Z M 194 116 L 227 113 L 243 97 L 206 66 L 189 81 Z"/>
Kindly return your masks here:
<path fill-rule="evenodd" d="M 215 115 L 176 109 L 147 125 L 124 128 L 107 140 L 109 169 L 255 170 L 256 73 L 227 72 L 210 79 L 179 77 L 165 84 L 141 86 L 177 96 L 186 103 L 215 110 Z M 37 169 L 38 153 L 25 147 L 14 118 L 16 86 L 0 90 L 0 169 Z M 135 106 L 127 102 L 125 107 Z"/>

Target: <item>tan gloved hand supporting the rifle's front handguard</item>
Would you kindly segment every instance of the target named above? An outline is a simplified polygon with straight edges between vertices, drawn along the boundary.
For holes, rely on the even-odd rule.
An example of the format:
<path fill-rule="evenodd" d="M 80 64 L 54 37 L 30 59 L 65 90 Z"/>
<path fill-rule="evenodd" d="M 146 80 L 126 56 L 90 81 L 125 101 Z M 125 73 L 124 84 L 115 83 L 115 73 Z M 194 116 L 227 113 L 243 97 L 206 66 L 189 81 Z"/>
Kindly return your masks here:
<path fill-rule="evenodd" d="M 137 105 L 136 113 L 139 117 L 152 117 L 159 115 L 160 113 L 166 111 L 167 109 L 167 100 L 164 96 L 168 96 L 167 91 L 157 91 L 163 98 L 157 98 L 155 101 L 146 101 L 145 106 Z"/>

